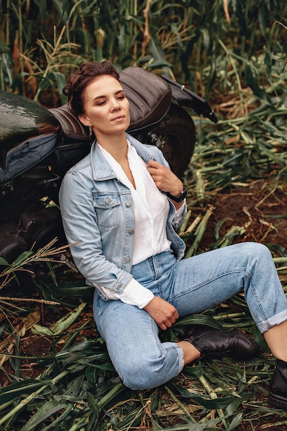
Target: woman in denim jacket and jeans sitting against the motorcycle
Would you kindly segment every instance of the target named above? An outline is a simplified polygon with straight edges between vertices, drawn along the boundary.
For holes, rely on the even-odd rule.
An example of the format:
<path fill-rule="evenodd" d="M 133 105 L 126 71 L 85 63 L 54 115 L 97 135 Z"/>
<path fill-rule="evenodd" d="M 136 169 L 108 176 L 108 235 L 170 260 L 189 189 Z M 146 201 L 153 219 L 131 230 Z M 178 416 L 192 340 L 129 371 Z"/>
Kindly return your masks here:
<path fill-rule="evenodd" d="M 96 136 L 63 180 L 63 224 L 68 242 L 78 243 L 71 247 L 76 266 L 95 287 L 96 325 L 125 385 L 154 388 L 206 355 L 253 357 L 254 341 L 237 332 L 198 326 L 177 343 L 158 338 L 178 317 L 244 290 L 277 358 L 270 403 L 287 408 L 287 301 L 268 249 L 248 242 L 182 259 L 175 229 L 186 192 L 156 147 L 126 134 L 129 101 L 113 65 L 84 63 L 63 92 Z"/>

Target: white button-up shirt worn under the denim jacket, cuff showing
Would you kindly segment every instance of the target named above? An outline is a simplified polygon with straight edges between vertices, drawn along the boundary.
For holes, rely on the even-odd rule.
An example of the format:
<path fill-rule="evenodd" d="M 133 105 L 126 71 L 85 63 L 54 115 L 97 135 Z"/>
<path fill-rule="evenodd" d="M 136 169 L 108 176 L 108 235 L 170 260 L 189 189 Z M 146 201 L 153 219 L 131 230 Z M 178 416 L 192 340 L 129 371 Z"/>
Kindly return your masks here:
<path fill-rule="evenodd" d="M 97 145 L 100 147 L 99 144 Z M 131 200 L 135 215 L 132 264 L 138 264 L 152 255 L 168 251 L 171 245 L 166 233 L 169 201 L 165 193 L 161 193 L 156 187 L 149 171 L 147 171 L 147 165 L 144 160 L 138 156 L 136 149 L 128 141 L 127 158 L 136 184 L 135 189 L 120 164 L 103 147 L 100 147 L 100 150 L 118 180 L 131 190 Z M 176 211 L 176 218 L 180 218 L 183 211 L 184 205 Z M 134 278 L 131 279 L 121 295 L 103 287 L 98 287 L 98 289 L 108 299 L 121 299 L 123 302 L 136 305 L 139 308 L 144 308 L 153 299 L 153 293 Z"/>

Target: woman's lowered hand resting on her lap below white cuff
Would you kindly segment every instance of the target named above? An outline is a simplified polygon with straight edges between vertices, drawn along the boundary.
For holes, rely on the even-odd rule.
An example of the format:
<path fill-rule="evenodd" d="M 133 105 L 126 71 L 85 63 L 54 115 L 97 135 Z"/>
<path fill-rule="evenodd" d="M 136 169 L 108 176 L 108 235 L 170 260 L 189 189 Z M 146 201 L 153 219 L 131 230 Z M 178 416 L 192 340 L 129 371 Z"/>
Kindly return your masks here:
<path fill-rule="evenodd" d="M 162 330 L 170 328 L 179 317 L 176 308 L 158 296 L 153 297 L 149 304 L 144 307 L 144 310 L 149 313 Z"/>

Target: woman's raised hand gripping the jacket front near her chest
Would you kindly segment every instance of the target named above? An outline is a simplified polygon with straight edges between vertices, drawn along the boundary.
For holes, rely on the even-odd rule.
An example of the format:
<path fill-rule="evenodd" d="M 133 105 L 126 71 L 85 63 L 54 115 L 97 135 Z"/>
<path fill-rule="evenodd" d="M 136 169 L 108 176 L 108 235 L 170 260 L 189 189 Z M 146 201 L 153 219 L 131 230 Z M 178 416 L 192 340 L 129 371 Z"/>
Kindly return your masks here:
<path fill-rule="evenodd" d="M 149 160 L 147 170 L 158 189 L 171 193 L 173 196 L 178 196 L 182 192 L 182 182 L 168 167 L 155 160 Z"/>

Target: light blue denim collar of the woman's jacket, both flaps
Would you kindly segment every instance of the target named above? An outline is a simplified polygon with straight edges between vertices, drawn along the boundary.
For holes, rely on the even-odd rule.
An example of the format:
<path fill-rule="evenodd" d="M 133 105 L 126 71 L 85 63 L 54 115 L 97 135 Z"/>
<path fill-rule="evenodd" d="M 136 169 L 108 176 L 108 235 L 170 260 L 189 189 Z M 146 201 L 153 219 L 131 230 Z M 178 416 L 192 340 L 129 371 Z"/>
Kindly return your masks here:
<path fill-rule="evenodd" d="M 142 158 L 142 160 L 147 163 L 149 162 L 149 160 L 155 158 L 155 151 L 153 149 L 153 145 L 147 146 L 140 143 L 136 138 L 129 134 L 126 134 L 126 136 L 129 140 L 129 143 L 136 149 L 138 155 Z M 103 156 L 102 152 L 98 148 L 98 145 L 96 145 L 96 141 L 94 141 L 92 145 L 90 157 L 94 180 L 105 181 L 112 178 L 116 178 L 116 175 L 111 169 L 109 163 L 107 163 L 105 156 Z"/>

